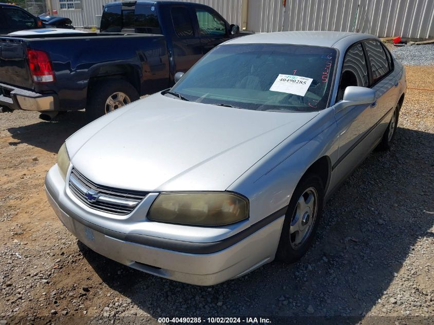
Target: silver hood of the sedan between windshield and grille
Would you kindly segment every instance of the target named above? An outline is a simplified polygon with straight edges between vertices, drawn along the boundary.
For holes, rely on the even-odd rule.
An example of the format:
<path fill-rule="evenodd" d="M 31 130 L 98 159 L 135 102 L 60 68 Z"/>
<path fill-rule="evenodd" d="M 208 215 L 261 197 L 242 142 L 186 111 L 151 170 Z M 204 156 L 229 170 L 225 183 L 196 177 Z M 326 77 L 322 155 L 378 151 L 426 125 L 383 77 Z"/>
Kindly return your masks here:
<path fill-rule="evenodd" d="M 264 112 L 154 94 L 67 140 L 93 182 L 145 191 L 225 190 L 317 112 Z"/>

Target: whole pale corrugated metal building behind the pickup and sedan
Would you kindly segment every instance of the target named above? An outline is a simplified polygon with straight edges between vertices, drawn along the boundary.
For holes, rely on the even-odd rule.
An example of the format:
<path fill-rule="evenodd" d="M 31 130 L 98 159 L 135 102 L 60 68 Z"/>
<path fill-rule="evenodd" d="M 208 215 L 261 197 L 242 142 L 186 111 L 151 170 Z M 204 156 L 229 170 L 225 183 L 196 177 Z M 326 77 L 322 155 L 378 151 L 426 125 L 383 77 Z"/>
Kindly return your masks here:
<path fill-rule="evenodd" d="M 114 0 L 46 0 L 74 26 L 96 26 Z M 231 24 L 254 32 L 360 31 L 380 37 L 434 37 L 433 0 L 180 0 L 209 5 Z M 286 6 L 284 7 L 284 3 Z"/>

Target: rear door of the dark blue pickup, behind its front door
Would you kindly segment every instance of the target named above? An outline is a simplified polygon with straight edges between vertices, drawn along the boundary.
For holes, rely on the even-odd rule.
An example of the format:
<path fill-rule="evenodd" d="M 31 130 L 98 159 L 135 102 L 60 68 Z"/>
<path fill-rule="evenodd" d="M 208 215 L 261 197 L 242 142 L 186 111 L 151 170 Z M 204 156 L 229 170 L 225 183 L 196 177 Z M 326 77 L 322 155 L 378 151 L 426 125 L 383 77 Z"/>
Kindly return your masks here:
<path fill-rule="evenodd" d="M 202 57 L 200 39 L 195 32 L 191 11 L 186 6 L 173 6 L 171 18 L 175 72 L 186 72 Z"/>

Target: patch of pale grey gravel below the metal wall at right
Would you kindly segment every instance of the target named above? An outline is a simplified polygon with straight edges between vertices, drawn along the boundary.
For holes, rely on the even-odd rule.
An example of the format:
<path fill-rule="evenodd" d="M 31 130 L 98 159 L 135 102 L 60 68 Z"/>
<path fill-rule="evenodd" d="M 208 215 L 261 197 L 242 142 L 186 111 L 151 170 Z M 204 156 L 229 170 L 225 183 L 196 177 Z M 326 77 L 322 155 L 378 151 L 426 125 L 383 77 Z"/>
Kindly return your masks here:
<path fill-rule="evenodd" d="M 434 65 L 434 44 L 389 47 L 395 58 L 405 65 Z"/>

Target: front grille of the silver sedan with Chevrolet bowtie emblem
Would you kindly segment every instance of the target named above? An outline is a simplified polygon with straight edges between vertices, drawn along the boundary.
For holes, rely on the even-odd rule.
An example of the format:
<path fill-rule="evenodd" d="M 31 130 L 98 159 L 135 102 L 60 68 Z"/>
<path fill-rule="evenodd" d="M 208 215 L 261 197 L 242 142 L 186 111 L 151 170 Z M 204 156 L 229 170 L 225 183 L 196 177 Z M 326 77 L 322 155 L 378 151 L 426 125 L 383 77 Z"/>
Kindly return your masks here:
<path fill-rule="evenodd" d="M 75 168 L 69 176 L 69 189 L 88 207 L 115 215 L 127 215 L 148 192 L 126 190 L 93 183 Z"/>

